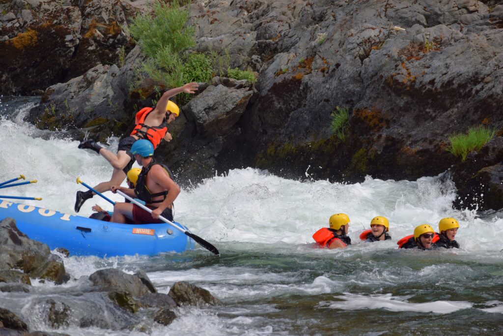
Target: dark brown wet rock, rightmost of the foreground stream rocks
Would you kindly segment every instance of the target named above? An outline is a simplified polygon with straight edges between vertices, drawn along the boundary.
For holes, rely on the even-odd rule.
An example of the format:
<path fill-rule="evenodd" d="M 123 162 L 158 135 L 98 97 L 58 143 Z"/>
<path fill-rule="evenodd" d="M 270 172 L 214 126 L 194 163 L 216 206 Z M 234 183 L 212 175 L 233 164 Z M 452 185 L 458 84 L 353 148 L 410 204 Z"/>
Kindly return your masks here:
<path fill-rule="evenodd" d="M 220 300 L 211 295 L 206 289 L 185 281 L 176 282 L 171 287 L 168 295 L 173 298 L 178 306 L 214 306 L 222 304 Z"/>

